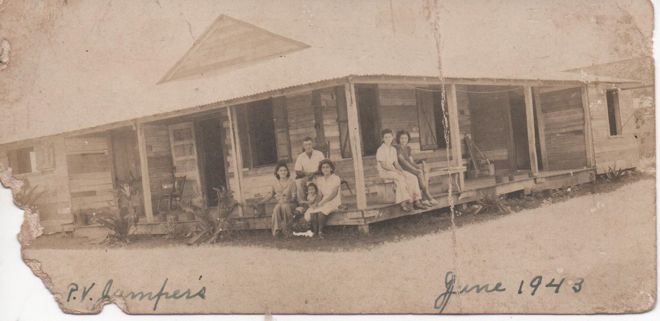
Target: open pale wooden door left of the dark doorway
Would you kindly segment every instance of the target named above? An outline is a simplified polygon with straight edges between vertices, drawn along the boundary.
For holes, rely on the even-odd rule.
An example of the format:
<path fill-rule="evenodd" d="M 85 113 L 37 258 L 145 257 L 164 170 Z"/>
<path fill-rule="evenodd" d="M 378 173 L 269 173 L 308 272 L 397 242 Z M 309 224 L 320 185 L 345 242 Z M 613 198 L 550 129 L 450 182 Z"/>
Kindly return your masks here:
<path fill-rule="evenodd" d="M 195 130 L 192 122 L 168 126 L 170 132 L 170 147 L 172 150 L 172 163 L 176 176 L 186 176 L 184 198 L 201 196 L 199 181 L 199 168 L 197 166 L 197 144 L 195 143 Z"/>

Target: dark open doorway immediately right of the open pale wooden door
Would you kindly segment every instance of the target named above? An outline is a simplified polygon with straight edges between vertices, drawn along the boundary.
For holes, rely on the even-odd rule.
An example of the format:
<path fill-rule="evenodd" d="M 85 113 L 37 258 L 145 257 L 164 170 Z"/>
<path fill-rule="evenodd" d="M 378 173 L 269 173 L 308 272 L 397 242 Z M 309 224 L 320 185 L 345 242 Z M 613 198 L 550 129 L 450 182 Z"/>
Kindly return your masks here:
<path fill-rule="evenodd" d="M 203 164 L 203 188 L 206 194 L 206 205 L 218 206 L 218 198 L 214 187 L 227 186 L 225 173 L 224 140 L 225 133 L 221 120 L 205 119 L 199 122 L 200 146 L 203 152 L 200 157 Z"/>

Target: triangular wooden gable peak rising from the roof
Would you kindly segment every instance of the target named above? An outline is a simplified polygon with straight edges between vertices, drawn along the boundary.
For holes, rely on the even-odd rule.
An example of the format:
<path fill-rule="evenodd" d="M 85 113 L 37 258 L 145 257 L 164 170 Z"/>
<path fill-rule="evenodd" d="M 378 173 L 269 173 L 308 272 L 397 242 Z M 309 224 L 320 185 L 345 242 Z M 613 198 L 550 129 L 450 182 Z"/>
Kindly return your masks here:
<path fill-rule="evenodd" d="M 308 47 L 245 21 L 220 15 L 159 83 L 240 67 Z"/>

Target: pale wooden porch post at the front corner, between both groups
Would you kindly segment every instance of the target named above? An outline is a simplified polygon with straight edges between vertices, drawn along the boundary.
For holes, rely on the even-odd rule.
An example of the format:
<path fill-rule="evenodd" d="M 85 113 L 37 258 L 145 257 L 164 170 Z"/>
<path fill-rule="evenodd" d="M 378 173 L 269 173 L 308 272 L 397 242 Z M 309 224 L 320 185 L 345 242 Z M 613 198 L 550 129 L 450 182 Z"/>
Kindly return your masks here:
<path fill-rule="evenodd" d="M 357 208 L 367 208 L 367 193 L 364 184 L 364 165 L 362 163 L 362 141 L 360 140 L 360 125 L 358 122 L 357 102 L 355 100 L 355 86 L 349 78 L 344 85 L 346 96 L 346 113 L 348 118 L 348 137 L 351 142 L 351 155 L 353 155 L 353 170 L 355 172 L 355 195 Z"/>

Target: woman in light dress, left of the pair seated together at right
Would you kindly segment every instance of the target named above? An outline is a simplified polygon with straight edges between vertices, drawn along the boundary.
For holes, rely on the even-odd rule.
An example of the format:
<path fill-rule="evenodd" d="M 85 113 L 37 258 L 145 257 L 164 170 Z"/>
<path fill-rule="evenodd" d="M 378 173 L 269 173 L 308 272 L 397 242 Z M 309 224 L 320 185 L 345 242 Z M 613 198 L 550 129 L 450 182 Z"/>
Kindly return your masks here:
<path fill-rule="evenodd" d="M 392 180 L 395 185 L 395 202 L 401 204 L 401 209 L 411 211 L 411 203 L 415 209 L 427 209 L 421 202 L 421 191 L 417 184 L 417 177 L 404 171 L 399 165 L 396 148 L 392 146 L 394 135 L 391 129 L 383 129 L 381 132 L 383 144 L 376 151 L 376 169 L 378 175 L 386 180 Z"/>

